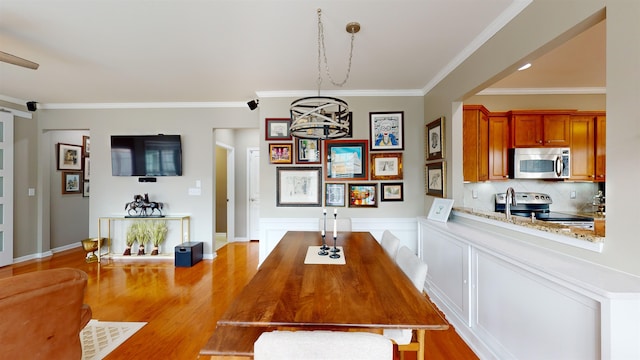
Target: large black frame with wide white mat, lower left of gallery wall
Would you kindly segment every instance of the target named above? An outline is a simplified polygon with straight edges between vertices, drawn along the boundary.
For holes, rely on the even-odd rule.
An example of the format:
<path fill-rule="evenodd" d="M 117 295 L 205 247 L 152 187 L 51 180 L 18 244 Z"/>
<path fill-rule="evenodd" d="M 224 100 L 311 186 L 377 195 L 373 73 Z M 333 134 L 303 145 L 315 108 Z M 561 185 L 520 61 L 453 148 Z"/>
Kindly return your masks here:
<path fill-rule="evenodd" d="M 276 206 L 321 206 L 321 167 L 277 167 Z"/>

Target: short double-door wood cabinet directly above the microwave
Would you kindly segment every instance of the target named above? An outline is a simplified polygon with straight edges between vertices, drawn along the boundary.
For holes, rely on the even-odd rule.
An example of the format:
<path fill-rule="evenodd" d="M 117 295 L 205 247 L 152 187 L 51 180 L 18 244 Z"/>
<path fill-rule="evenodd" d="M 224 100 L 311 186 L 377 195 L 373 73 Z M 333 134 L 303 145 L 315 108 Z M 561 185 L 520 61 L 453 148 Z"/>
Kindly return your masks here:
<path fill-rule="evenodd" d="M 574 111 L 510 111 L 511 147 L 568 147 Z"/>

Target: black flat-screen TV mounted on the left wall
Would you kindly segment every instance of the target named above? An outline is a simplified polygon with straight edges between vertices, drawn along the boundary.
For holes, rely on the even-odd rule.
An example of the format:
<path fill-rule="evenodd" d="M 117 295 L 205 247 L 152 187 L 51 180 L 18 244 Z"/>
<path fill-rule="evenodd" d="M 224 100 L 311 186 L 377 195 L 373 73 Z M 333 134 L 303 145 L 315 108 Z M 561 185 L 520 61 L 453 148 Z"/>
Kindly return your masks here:
<path fill-rule="evenodd" d="M 182 176 L 180 135 L 112 135 L 113 176 Z"/>

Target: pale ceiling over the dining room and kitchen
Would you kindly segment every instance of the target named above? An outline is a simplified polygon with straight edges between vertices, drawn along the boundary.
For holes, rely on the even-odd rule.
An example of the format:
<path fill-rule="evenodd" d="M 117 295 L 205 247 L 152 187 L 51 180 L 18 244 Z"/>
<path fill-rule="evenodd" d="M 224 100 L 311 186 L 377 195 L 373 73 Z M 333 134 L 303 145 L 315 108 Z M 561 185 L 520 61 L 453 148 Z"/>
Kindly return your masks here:
<path fill-rule="evenodd" d="M 41 104 L 246 102 L 317 92 L 317 9 L 330 74 L 322 90 L 424 94 L 528 0 L 2 0 L 0 99 Z M 505 20 L 506 19 L 506 20 Z M 593 30 L 593 31 L 592 31 Z M 604 25 L 497 88 L 604 87 Z M 258 94 L 258 95 L 257 95 Z"/>

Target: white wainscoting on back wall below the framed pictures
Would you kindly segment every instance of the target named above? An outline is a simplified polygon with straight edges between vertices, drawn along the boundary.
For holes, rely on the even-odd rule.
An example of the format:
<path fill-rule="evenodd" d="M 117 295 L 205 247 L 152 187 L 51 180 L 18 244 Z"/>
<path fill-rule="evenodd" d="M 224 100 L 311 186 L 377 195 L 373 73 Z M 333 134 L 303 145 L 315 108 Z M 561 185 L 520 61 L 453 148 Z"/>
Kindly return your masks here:
<path fill-rule="evenodd" d="M 287 231 L 320 231 L 319 218 L 261 218 L 259 264 L 262 264 Z M 330 226 L 333 224 L 332 220 L 327 216 L 329 229 L 332 229 Z M 389 230 L 400 239 L 401 245 L 407 246 L 417 254 L 418 221 L 416 218 L 351 218 L 351 229 L 369 231 L 378 242 L 382 238 L 382 233 Z"/>

